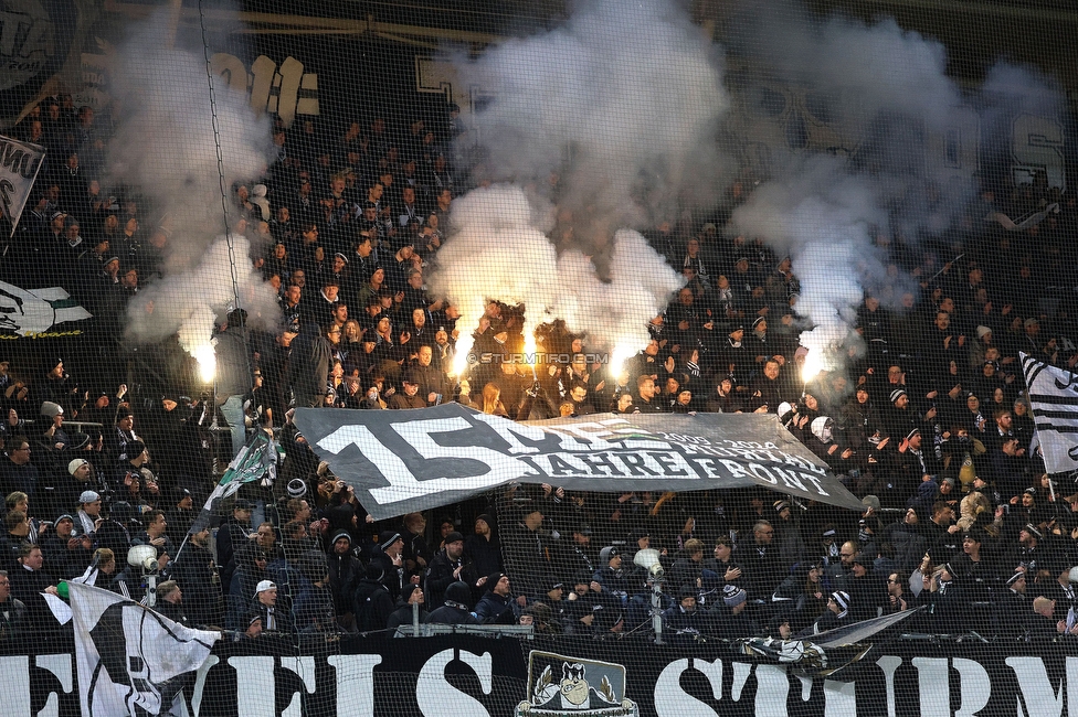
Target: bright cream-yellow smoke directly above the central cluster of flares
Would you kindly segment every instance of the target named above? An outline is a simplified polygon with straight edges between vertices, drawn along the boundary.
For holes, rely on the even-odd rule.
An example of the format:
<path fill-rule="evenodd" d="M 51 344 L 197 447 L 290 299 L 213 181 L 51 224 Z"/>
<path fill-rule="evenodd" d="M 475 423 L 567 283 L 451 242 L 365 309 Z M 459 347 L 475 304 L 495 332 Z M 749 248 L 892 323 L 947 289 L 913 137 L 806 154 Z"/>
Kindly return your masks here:
<path fill-rule="evenodd" d="M 535 204 L 509 184 L 477 189 L 454 202 L 457 233 L 438 252 L 442 268 L 431 277 L 431 289 L 461 310 L 458 324 L 467 330 L 457 340 L 457 355 L 471 350 L 471 328 L 492 298 L 526 304 L 526 335 L 560 318 L 596 341 L 617 341 L 623 352 L 645 344 L 647 320 L 662 311 L 680 277 L 643 236 L 620 229 L 603 281 L 581 252 L 558 256 L 541 228 L 549 225 L 550 207 L 537 211 Z"/>

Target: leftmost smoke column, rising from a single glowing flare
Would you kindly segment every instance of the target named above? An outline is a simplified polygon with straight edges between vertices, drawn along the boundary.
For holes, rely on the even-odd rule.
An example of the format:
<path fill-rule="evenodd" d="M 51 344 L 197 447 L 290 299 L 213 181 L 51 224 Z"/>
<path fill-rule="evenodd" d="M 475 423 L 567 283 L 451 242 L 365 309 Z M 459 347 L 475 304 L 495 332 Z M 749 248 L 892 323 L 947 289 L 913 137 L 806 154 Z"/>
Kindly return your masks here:
<path fill-rule="evenodd" d="M 128 307 L 128 336 L 146 342 L 179 332 L 183 347 L 202 363 L 214 314 L 235 301 L 231 257 L 222 237 L 213 113 L 225 191 L 234 181 L 264 174 L 272 141 L 268 118 L 256 116 L 246 97 L 216 75 L 211 107 L 201 49 L 168 49 L 167 26 L 163 17 L 135 25 L 118 53 L 113 84 L 123 113 L 109 145 L 109 180 L 138 188 L 158 215 L 169 216 L 172 229 L 163 279 L 140 291 Z M 251 272 L 247 243 L 237 239 L 241 306 L 272 322 L 277 313 L 273 292 L 257 286 L 261 279 Z"/>

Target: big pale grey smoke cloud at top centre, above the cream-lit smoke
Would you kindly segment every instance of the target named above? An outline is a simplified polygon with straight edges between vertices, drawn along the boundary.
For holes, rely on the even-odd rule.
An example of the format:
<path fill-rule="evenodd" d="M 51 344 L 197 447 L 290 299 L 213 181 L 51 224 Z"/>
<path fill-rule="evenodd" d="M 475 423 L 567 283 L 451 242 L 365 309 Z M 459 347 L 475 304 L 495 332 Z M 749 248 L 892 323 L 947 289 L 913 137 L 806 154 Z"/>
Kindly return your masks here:
<path fill-rule="evenodd" d="M 679 199 L 718 185 L 729 97 L 710 41 L 676 3 L 584 2 L 559 29 L 458 64 L 492 94 L 477 118 L 483 170 L 540 186 L 557 175 L 550 199 L 603 264 L 615 229 L 675 220 Z"/>

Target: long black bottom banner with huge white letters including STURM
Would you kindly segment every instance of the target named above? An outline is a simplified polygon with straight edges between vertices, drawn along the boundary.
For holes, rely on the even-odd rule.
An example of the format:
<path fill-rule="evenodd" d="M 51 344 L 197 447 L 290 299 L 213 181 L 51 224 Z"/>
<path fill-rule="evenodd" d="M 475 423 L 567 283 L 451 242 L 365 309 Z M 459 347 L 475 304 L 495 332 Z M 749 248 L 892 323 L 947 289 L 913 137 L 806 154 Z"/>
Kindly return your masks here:
<path fill-rule="evenodd" d="M 298 648 L 271 635 L 219 641 L 179 699 L 189 715 L 239 717 L 1057 717 L 1078 704 L 1074 641 L 899 640 L 841 679 L 739 655 L 722 642 L 443 635 Z M 0 656 L 0 714 L 36 715 L 50 704 L 78 714 L 74 659 L 46 650 Z"/>

